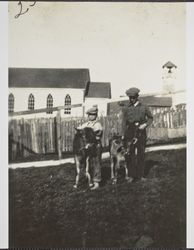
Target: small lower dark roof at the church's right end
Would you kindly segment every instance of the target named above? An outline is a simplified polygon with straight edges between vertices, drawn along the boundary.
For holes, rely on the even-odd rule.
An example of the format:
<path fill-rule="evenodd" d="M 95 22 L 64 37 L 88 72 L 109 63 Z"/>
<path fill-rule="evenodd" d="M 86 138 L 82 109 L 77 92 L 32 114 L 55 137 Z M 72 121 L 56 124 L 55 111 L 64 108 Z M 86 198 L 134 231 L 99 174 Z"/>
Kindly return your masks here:
<path fill-rule="evenodd" d="M 89 98 L 111 98 L 110 82 L 90 82 L 85 97 Z"/>

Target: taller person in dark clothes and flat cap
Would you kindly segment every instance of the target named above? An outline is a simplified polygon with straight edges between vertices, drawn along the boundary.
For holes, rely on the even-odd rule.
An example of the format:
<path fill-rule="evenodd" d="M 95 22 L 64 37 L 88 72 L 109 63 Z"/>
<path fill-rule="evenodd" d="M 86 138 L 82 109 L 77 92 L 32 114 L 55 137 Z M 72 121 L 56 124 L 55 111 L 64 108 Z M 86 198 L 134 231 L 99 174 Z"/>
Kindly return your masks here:
<path fill-rule="evenodd" d="M 146 128 L 153 121 L 153 116 L 148 107 L 138 100 L 139 92 L 138 88 L 130 88 L 126 91 L 129 97 L 129 105 L 122 110 L 122 128 L 123 132 L 125 131 L 124 140 L 132 139 L 132 137 L 129 138 L 130 131 L 133 132 L 133 137 L 137 138 L 130 146 L 128 170 L 131 177 L 129 181 L 133 181 L 134 179 L 145 180 Z"/>

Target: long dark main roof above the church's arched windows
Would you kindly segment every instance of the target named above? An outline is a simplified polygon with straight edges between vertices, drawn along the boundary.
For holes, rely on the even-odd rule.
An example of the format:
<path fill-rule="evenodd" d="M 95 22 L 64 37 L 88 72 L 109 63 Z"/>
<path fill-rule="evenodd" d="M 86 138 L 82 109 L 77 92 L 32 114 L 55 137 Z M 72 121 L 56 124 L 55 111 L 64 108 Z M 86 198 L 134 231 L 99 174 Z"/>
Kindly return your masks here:
<path fill-rule="evenodd" d="M 85 89 L 89 81 L 89 69 L 9 68 L 12 88 Z"/>

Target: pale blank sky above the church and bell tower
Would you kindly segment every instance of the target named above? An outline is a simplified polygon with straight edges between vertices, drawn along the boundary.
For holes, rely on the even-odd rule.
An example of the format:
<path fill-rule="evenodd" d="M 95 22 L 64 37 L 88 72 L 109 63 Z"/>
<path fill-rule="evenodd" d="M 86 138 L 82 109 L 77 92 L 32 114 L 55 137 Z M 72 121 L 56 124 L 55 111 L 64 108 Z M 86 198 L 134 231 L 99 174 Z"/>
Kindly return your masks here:
<path fill-rule="evenodd" d="M 133 86 L 161 91 L 171 61 L 175 90 L 186 88 L 185 3 L 37 2 L 18 12 L 10 2 L 10 67 L 89 68 L 91 81 L 111 82 L 118 97 Z"/>

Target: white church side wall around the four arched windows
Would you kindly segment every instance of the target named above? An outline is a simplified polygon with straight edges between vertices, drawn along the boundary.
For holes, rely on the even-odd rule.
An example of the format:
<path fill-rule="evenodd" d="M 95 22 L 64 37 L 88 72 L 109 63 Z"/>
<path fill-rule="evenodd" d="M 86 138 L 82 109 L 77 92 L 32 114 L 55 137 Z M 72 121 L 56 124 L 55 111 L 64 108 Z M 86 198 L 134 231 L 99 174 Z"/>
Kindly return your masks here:
<path fill-rule="evenodd" d="M 71 97 L 71 104 L 82 104 L 84 89 L 62 89 L 62 88 L 9 88 L 9 94 L 14 95 L 14 112 L 28 110 L 28 97 L 32 93 L 35 98 L 35 109 L 46 108 L 47 96 L 49 94 L 53 97 L 53 107 L 64 106 L 65 96 L 67 94 Z M 72 108 L 71 114 L 64 114 L 62 116 L 82 116 L 83 108 Z M 36 114 L 40 116 L 53 116 L 46 113 Z"/>

